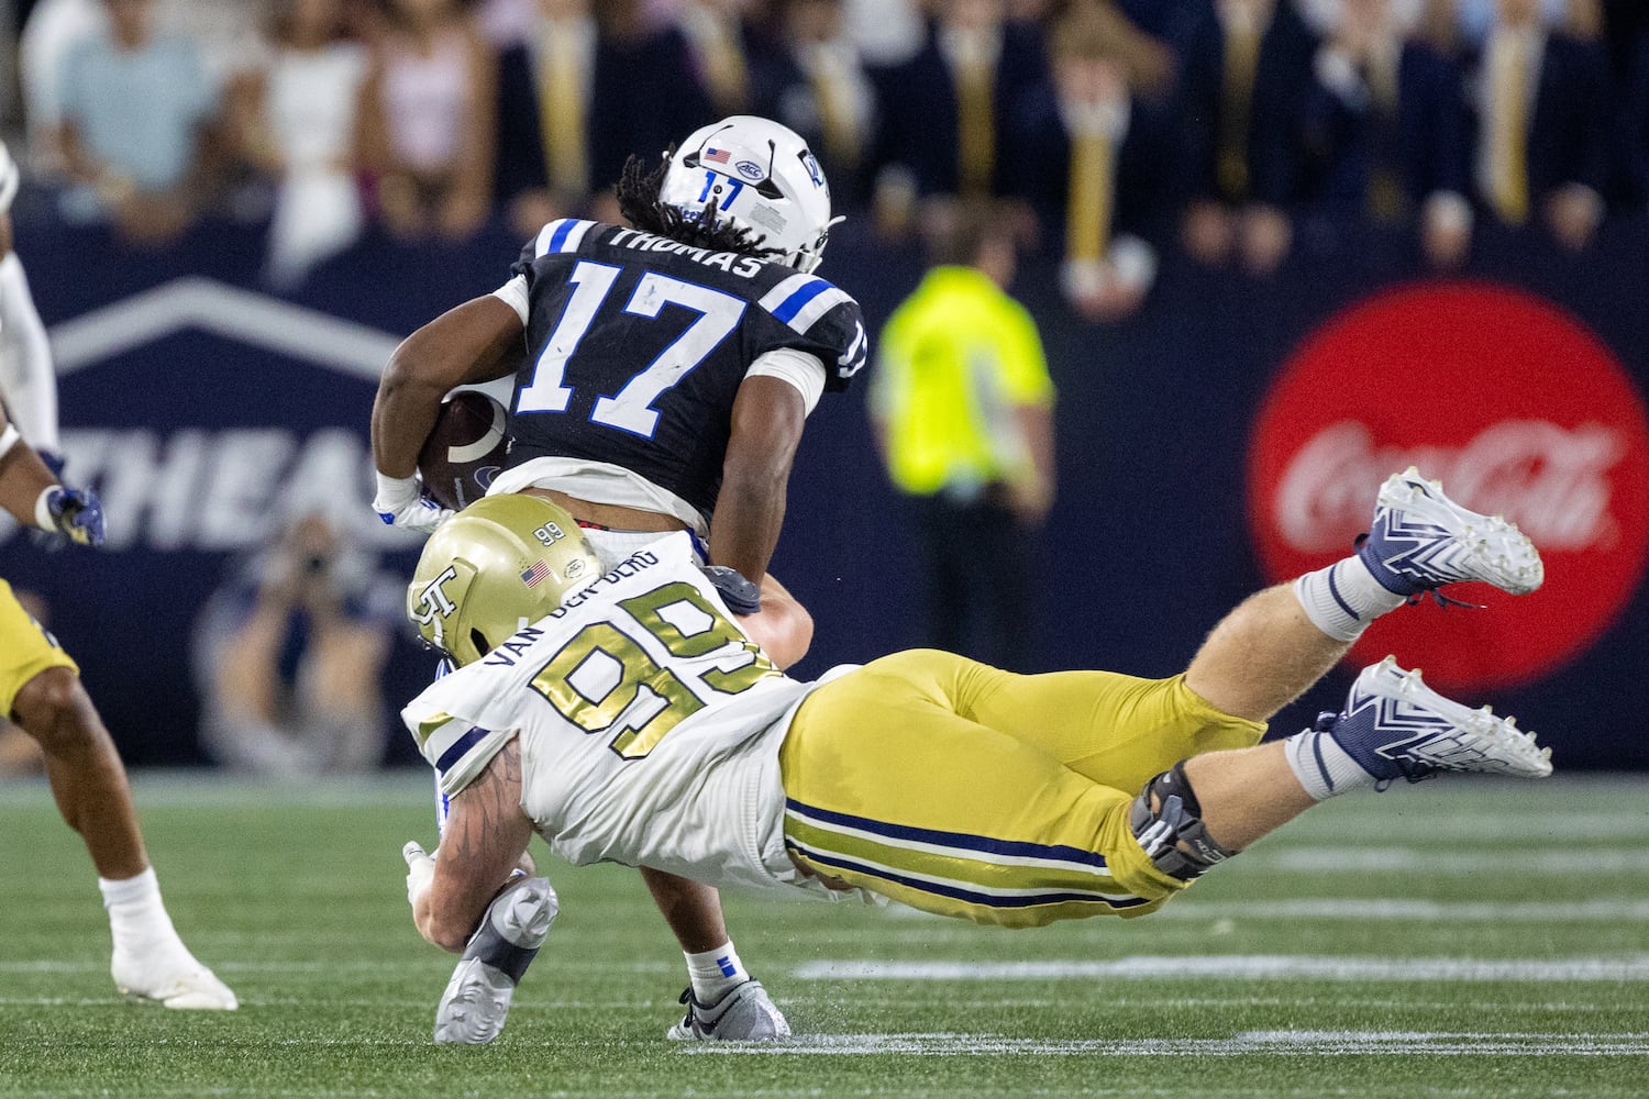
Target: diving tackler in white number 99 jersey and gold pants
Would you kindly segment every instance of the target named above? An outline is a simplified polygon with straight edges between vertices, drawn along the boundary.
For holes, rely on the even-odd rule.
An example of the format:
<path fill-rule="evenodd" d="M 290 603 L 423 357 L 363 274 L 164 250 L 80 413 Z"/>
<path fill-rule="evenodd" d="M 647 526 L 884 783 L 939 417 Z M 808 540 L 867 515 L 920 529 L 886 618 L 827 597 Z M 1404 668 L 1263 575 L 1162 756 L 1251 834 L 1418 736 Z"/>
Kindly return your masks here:
<path fill-rule="evenodd" d="M 486 1038 L 556 908 L 524 862 L 534 832 L 580 865 L 998 926 L 1149 914 L 1324 797 L 1550 774 L 1509 718 L 1392 657 L 1342 712 L 1260 743 L 1374 618 L 1446 583 L 1542 578 L 1514 526 L 1408 470 L 1354 555 L 1250 596 L 1179 676 L 915 651 L 803 684 L 763 651 L 792 606 L 735 613 L 737 578 L 706 575 L 684 535 L 604 570 L 566 511 L 488 498 L 430 539 L 407 592 L 458 666 L 404 712 L 452 797 L 437 857 L 404 852 L 407 900 L 427 941 L 463 952 L 449 995 Z"/>

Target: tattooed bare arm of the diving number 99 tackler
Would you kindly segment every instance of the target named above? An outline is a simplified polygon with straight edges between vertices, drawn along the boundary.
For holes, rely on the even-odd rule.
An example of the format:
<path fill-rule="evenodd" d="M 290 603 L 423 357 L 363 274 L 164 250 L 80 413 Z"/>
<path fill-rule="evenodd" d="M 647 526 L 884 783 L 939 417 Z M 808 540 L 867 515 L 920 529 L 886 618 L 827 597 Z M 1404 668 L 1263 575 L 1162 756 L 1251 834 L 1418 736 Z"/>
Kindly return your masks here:
<path fill-rule="evenodd" d="M 531 839 L 533 822 L 521 812 L 521 745 L 511 740 L 452 799 L 435 875 L 412 906 L 419 934 L 444 951 L 463 951 Z"/>

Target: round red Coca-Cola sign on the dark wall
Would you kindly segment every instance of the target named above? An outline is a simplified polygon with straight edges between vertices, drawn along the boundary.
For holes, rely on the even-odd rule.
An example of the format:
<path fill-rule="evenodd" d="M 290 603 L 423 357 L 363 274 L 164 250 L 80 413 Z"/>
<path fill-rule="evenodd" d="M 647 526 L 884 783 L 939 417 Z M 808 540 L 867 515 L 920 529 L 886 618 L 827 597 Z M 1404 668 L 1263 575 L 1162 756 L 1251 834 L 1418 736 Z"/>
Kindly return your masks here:
<path fill-rule="evenodd" d="M 1525 682 L 1598 639 L 1642 582 L 1649 422 L 1631 377 L 1576 320 L 1527 293 L 1441 283 L 1377 295 L 1314 333 L 1261 409 L 1248 463 L 1260 559 L 1286 580 L 1344 557 L 1388 475 L 1418 466 L 1540 549 L 1545 585 L 1458 585 L 1375 623 L 1446 689 Z"/>

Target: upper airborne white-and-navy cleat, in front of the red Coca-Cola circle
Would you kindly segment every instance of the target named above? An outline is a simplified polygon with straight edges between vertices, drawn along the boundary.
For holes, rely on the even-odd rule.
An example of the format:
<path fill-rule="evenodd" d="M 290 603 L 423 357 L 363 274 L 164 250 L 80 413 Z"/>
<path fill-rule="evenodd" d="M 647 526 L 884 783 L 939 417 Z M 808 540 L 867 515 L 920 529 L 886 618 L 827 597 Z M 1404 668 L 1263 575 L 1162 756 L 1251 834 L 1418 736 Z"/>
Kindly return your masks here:
<path fill-rule="evenodd" d="M 1357 557 L 1397 595 L 1435 592 L 1445 583 L 1482 580 L 1529 595 L 1545 580 L 1534 542 L 1501 516 L 1481 516 L 1443 494 L 1415 466 L 1380 486 L 1374 524 Z"/>

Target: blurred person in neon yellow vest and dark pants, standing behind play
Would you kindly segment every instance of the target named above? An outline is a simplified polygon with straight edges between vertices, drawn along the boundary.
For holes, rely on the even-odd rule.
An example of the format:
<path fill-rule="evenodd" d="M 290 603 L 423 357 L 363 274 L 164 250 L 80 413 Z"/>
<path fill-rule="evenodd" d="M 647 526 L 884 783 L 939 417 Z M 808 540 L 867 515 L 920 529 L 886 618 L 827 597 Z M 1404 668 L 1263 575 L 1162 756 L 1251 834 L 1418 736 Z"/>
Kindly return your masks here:
<path fill-rule="evenodd" d="M 894 486 L 915 504 L 925 641 L 1021 671 L 1026 539 L 1054 503 L 1054 382 L 1036 321 L 1006 292 L 1009 221 L 983 203 L 945 221 L 937 265 L 882 330 L 871 417 Z"/>

